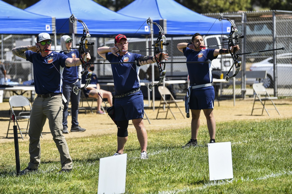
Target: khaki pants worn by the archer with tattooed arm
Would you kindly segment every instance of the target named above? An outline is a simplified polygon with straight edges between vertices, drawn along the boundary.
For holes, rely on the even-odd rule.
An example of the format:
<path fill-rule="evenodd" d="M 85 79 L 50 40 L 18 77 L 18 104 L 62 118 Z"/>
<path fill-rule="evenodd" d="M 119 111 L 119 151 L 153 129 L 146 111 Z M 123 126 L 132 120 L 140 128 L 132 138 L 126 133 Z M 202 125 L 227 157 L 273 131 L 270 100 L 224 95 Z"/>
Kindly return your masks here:
<path fill-rule="evenodd" d="M 30 154 L 28 168 L 38 168 L 41 163 L 40 136 L 47 118 L 53 140 L 60 153 L 62 169 L 72 168 L 72 158 L 69 154 L 66 139 L 62 134 L 63 108 L 62 96 L 57 95 L 44 99 L 36 97 L 34 100 L 28 132 Z"/>

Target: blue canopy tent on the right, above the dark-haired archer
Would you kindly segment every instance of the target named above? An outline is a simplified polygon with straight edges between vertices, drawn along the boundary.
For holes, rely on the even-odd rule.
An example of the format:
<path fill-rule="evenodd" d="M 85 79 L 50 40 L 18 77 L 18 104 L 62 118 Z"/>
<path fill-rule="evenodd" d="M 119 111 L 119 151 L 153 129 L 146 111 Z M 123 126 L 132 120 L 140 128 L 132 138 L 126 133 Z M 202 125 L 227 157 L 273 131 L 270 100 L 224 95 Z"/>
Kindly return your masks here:
<path fill-rule="evenodd" d="M 157 22 L 167 35 L 229 34 L 230 22 L 198 14 L 174 0 L 135 0 L 117 13 L 148 18 Z M 220 24 L 221 23 L 221 24 Z M 158 33 L 158 29 L 154 33 Z"/>

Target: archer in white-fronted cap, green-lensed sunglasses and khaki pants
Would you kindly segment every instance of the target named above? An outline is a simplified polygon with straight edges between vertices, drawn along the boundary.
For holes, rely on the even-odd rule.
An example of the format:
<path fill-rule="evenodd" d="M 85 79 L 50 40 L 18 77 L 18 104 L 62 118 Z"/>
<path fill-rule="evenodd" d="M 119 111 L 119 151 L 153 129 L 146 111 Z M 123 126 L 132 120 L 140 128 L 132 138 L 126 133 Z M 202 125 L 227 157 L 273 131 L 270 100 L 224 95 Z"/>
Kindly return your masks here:
<path fill-rule="evenodd" d="M 79 58 L 51 51 L 52 39 L 48 33 L 40 33 L 36 38 L 36 45 L 20 46 L 12 49 L 13 54 L 30 61 L 34 69 L 34 88 L 37 97 L 32 104 L 29 123 L 29 154 L 30 162 L 22 174 L 38 170 L 41 163 L 40 135 L 46 119 L 53 140 L 60 153 L 62 168 L 59 172 L 72 170 L 72 158 L 65 137 L 62 134 L 62 72 L 64 68 L 81 65 Z M 90 55 L 83 54 L 89 60 Z"/>

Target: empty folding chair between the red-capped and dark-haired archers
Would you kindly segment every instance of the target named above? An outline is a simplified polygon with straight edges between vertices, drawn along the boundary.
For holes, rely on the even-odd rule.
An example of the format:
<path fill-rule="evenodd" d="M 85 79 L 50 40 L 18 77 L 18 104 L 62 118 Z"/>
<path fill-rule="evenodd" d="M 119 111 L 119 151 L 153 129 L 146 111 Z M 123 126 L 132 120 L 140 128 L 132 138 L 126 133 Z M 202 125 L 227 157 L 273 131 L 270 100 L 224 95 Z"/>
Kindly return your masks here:
<path fill-rule="evenodd" d="M 179 99 L 179 100 L 176 100 L 174 99 L 173 95 L 171 94 L 171 92 L 168 90 L 168 88 L 164 87 L 164 86 L 158 86 L 158 91 L 161 95 L 161 99 L 160 99 L 160 104 L 159 104 L 159 108 L 158 108 L 158 112 L 157 112 L 157 116 L 156 116 L 156 119 L 158 117 L 158 114 L 159 113 L 165 113 L 166 112 L 166 116 L 165 118 L 167 117 L 167 113 L 168 113 L 168 110 L 171 112 L 171 114 L 173 115 L 174 119 L 176 120 L 175 116 L 174 116 L 174 113 L 171 111 L 170 109 L 170 104 L 175 104 L 176 107 L 178 107 L 178 110 L 180 110 L 180 107 L 178 106 L 178 102 L 184 102 L 183 99 Z M 170 95 L 170 100 L 166 100 L 166 95 Z M 162 105 L 162 107 L 161 107 Z M 164 108 L 163 105 L 166 105 L 167 106 L 167 111 L 160 111 L 160 109 Z M 181 113 L 183 115 L 183 112 L 180 110 L 180 112 L 175 112 L 175 113 Z M 185 115 L 183 115 L 183 118 L 185 118 Z"/>

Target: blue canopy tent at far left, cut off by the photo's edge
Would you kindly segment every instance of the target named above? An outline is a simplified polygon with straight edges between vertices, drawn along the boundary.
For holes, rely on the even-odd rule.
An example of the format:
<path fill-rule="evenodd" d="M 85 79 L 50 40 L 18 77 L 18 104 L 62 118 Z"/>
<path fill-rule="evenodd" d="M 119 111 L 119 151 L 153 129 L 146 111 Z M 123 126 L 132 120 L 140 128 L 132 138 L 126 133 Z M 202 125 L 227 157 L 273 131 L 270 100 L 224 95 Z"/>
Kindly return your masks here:
<path fill-rule="evenodd" d="M 55 30 L 55 18 L 34 14 L 4 1 L 0 1 L 0 7 L 0 34 L 35 35 Z"/>

